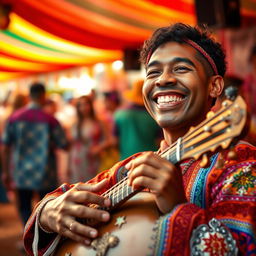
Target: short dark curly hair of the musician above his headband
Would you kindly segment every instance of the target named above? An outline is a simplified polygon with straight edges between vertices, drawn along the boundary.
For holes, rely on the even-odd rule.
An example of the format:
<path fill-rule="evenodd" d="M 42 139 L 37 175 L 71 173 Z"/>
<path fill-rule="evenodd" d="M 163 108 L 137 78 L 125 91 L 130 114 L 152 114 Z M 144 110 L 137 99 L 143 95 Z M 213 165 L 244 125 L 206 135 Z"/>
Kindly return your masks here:
<path fill-rule="evenodd" d="M 226 61 L 225 53 L 221 45 L 216 42 L 207 27 L 192 27 L 183 23 L 176 23 L 168 27 L 157 29 L 151 38 L 144 42 L 140 52 L 140 61 L 146 65 L 149 54 L 152 54 L 160 45 L 166 42 L 184 43 L 185 40 L 192 40 L 201 46 L 213 59 L 218 74 L 225 75 Z"/>

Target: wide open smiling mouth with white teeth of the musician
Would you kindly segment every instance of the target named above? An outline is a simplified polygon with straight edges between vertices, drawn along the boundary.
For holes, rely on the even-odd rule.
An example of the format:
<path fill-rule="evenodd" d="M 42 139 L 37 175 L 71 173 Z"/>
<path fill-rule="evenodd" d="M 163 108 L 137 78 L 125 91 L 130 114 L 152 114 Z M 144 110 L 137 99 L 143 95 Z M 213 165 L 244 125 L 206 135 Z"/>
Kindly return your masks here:
<path fill-rule="evenodd" d="M 186 95 L 180 92 L 160 92 L 153 96 L 153 101 L 157 104 L 157 108 L 172 109 L 183 105 Z"/>

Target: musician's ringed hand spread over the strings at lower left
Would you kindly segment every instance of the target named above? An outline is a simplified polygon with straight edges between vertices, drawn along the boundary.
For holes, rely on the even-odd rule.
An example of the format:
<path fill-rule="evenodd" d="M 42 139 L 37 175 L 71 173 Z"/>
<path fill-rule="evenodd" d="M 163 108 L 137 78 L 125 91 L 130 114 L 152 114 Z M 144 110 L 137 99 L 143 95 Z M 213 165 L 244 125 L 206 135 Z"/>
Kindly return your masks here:
<path fill-rule="evenodd" d="M 101 222 L 109 220 L 110 215 L 107 211 L 86 206 L 88 204 L 97 204 L 101 207 L 111 205 L 110 199 L 95 194 L 106 185 L 107 180 L 97 184 L 79 183 L 63 195 L 49 201 L 40 215 L 41 226 L 77 242 L 90 244 L 91 239 L 97 237 L 98 231 L 87 224 L 79 223 L 76 218 Z"/>

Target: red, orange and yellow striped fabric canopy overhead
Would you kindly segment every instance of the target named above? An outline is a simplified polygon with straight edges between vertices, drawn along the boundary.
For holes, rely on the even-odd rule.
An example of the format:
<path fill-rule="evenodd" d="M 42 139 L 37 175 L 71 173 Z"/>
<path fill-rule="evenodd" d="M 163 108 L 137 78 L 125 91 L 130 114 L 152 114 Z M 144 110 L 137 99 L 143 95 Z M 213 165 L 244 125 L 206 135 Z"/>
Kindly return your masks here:
<path fill-rule="evenodd" d="M 254 0 L 245 15 L 255 15 Z M 193 0 L 0 0 L 11 5 L 0 31 L 0 81 L 122 59 L 157 27 L 195 24 Z M 253 5 L 253 8 L 251 8 Z"/>

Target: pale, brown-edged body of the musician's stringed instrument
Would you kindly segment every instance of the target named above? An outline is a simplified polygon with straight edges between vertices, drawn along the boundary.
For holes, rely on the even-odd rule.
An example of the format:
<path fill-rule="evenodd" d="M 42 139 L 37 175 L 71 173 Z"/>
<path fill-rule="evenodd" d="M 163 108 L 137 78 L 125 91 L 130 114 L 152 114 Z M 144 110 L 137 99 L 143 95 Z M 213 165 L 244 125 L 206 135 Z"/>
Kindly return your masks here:
<path fill-rule="evenodd" d="M 120 228 L 115 225 L 120 216 L 125 221 Z M 110 248 L 111 256 L 148 255 L 152 245 L 153 227 L 159 218 L 154 195 L 149 192 L 139 192 L 111 213 L 111 220 L 98 227 L 99 237 L 107 232 L 120 239 L 117 246 Z M 95 256 L 96 251 L 91 246 L 66 240 L 59 245 L 56 256 Z"/>

